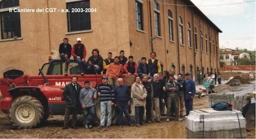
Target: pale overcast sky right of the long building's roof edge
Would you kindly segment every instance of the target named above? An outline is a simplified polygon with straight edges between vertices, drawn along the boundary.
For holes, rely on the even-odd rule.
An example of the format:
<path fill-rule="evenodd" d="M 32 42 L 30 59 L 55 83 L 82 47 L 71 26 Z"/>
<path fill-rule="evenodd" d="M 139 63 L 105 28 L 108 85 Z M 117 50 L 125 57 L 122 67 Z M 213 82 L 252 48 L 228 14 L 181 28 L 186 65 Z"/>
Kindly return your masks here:
<path fill-rule="evenodd" d="M 220 48 L 235 49 L 238 47 L 239 49 L 255 50 L 255 0 L 190 1 L 222 31 L 219 33 Z"/>

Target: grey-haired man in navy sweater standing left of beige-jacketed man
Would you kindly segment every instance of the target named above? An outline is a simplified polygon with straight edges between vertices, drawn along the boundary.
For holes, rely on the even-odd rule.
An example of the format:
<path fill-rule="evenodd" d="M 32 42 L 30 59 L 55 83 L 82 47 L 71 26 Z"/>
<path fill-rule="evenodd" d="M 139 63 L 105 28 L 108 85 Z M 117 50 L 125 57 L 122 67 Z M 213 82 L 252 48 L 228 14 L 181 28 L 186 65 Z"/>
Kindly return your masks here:
<path fill-rule="evenodd" d="M 115 101 L 116 101 L 116 107 L 117 107 L 117 124 L 119 126 L 122 126 L 122 120 L 123 120 L 123 112 L 125 114 L 125 118 L 127 120 L 127 123 L 129 126 L 133 126 L 130 112 L 129 112 L 129 105 L 130 105 L 130 93 L 128 86 L 124 85 L 123 79 L 118 78 L 117 84 L 114 93 L 115 93 Z"/>

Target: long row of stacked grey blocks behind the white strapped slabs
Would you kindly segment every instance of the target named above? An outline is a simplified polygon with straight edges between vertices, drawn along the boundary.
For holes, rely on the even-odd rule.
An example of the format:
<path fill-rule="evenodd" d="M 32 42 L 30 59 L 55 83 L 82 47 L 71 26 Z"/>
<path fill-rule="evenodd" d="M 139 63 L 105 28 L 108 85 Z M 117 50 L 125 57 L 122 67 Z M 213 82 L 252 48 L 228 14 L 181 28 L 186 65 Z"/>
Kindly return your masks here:
<path fill-rule="evenodd" d="M 235 95 L 231 94 L 209 94 L 208 102 L 209 108 L 212 107 L 214 103 L 227 102 L 233 105 L 233 109 L 241 110 L 250 100 L 247 99 L 246 95 Z"/>

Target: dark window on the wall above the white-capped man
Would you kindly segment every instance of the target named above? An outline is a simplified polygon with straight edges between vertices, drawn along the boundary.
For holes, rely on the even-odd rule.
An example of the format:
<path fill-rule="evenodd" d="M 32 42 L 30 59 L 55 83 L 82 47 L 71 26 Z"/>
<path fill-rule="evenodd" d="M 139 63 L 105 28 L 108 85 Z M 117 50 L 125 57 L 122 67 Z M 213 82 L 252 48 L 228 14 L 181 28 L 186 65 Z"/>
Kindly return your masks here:
<path fill-rule="evenodd" d="M 67 1 L 67 0 L 66 0 Z M 67 9 L 71 11 L 76 8 L 90 8 L 90 0 L 67 1 Z M 68 14 L 68 32 L 91 30 L 90 12 L 69 12 Z"/>

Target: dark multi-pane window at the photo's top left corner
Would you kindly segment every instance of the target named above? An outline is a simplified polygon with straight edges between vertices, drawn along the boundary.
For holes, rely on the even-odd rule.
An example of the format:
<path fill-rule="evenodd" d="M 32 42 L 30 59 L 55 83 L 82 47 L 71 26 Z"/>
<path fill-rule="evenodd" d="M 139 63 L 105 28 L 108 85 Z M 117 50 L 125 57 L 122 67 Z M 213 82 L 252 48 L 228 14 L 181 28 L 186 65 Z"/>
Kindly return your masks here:
<path fill-rule="evenodd" d="M 1 38 L 11 39 L 21 37 L 20 13 L 9 12 L 19 7 L 19 0 L 3 0 L 0 2 Z"/>

